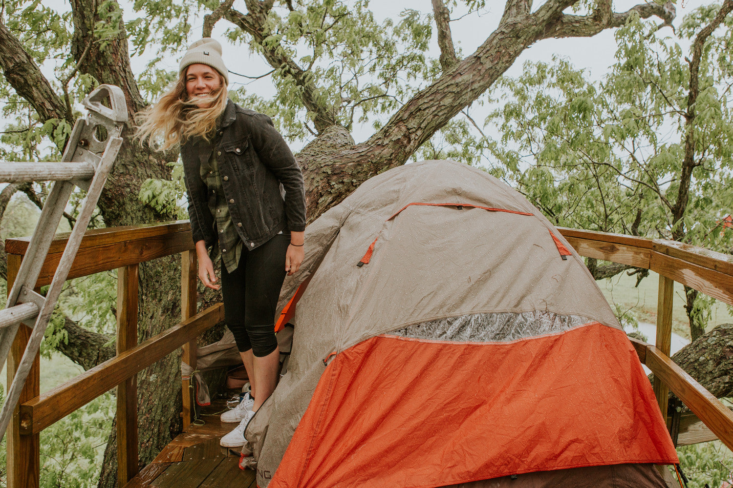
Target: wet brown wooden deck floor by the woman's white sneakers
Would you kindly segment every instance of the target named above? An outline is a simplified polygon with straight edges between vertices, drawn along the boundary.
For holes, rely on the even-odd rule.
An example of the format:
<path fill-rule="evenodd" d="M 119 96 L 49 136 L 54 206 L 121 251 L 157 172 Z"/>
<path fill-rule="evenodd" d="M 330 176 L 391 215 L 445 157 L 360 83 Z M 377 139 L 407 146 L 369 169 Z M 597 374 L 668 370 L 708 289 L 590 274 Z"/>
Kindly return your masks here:
<path fill-rule="evenodd" d="M 224 401 L 212 402 L 203 413 L 224 410 Z M 222 435 L 237 424 L 222 424 L 218 415 L 178 435 L 143 468 L 125 488 L 257 488 L 254 471 L 240 470 L 239 451 L 219 446 Z"/>

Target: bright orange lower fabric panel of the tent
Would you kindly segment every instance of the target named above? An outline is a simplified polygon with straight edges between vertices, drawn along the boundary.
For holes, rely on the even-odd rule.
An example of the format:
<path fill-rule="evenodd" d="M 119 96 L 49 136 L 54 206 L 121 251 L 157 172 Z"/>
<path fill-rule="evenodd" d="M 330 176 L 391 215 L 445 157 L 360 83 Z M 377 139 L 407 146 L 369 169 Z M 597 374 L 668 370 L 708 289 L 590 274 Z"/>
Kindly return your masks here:
<path fill-rule="evenodd" d="M 328 365 L 268 486 L 427 488 L 628 462 L 678 461 L 622 331 L 380 335 Z"/>

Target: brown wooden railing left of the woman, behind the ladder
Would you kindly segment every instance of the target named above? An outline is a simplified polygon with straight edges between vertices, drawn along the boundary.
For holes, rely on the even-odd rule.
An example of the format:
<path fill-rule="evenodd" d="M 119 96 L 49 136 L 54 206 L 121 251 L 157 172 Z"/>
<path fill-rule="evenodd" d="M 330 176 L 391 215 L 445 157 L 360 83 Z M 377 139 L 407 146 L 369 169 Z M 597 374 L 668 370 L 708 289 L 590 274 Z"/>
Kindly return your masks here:
<path fill-rule="evenodd" d="M 21 265 L 29 239 L 8 239 L 8 289 Z M 51 244 L 36 287 L 53 278 L 66 239 Z M 224 320 L 221 304 L 196 314 L 196 252 L 188 221 L 91 230 L 86 233 L 69 279 L 117 269 L 117 356 L 66 383 L 40 393 L 36 360 L 23 388 L 20 406 L 7 430 L 7 486 L 39 485 L 39 432 L 117 386 L 117 476 L 121 488 L 138 471 L 136 375 L 183 347 L 183 361 L 196 366 L 196 337 Z M 176 326 L 138 344 L 138 266 L 148 260 L 181 254 L 181 315 Z M 9 384 L 28 340 L 21 328 L 8 359 Z M 183 424 L 191 420 L 188 380 L 183 380 Z"/>

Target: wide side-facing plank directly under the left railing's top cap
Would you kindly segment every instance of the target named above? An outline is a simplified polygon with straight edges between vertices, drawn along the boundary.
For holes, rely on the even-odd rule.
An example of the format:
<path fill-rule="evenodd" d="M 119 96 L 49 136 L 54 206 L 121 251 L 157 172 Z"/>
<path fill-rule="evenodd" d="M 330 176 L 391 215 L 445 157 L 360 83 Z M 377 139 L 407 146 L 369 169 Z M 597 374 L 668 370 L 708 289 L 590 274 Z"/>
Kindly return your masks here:
<path fill-rule="evenodd" d="M 143 263 L 163 256 L 177 254 L 194 247 L 191 231 L 162 236 L 151 236 L 135 241 L 117 242 L 79 249 L 71 265 L 67 279 L 109 271 L 111 269 Z M 48 254 L 38 275 L 36 286 L 48 285 L 61 260 L 61 253 Z"/>

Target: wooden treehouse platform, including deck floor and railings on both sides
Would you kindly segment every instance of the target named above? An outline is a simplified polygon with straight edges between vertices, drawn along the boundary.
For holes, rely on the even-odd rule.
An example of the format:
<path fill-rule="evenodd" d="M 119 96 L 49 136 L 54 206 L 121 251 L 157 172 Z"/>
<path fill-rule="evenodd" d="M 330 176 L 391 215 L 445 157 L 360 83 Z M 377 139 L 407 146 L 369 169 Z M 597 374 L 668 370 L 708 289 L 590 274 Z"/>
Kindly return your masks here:
<path fill-rule="evenodd" d="M 660 412 L 676 443 L 720 439 L 733 449 L 733 412 L 669 357 L 674 282 L 733 305 L 733 256 L 662 239 L 559 228 L 559 232 L 579 255 L 626 266 L 649 269 L 659 274 L 658 317 L 655 344 L 632 340 L 641 364 L 654 373 L 654 390 Z M 12 288 L 29 250 L 29 238 L 7 239 L 7 285 Z M 56 236 L 40 266 L 34 288 L 51 283 L 68 236 Z M 180 256 L 180 323 L 143 340 L 138 334 L 141 263 L 166 259 L 164 269 Z M 138 488 L 256 487 L 255 473 L 239 469 L 239 454 L 219 446 L 222 435 L 235 424 L 221 424 L 218 413 L 223 402 L 213 402 L 194 421 L 192 395 L 183 395 L 183 433 L 139 470 L 139 372 L 172 354 L 196 368 L 196 350 L 201 334 L 224 320 L 221 303 L 199 303 L 198 265 L 186 221 L 88 230 L 67 279 L 117 270 L 116 354 L 49 391 L 40 391 L 40 361 L 36 356 L 28 379 L 8 424 L 7 486 L 37 488 L 40 485 L 40 432 L 86 403 L 117 388 L 117 486 Z M 174 275 L 173 275 L 174 276 Z M 175 279 L 178 279 L 176 277 Z M 679 300 L 679 298 L 677 299 Z M 29 328 L 18 329 L 7 361 L 8 383 L 18 371 L 29 342 Z M 190 377 L 182 377 L 181 390 L 190 391 Z M 668 392 L 695 414 L 690 426 L 668 408 Z M 208 414 L 208 415 L 207 415 Z M 696 427 L 690 428 L 692 425 Z M 704 424 L 704 427 L 701 425 Z M 690 431 L 694 438 L 685 439 Z M 149 449 L 150 446 L 145 448 Z M 150 451 L 149 451 L 150 452 Z M 151 454 L 152 455 L 152 454 Z"/>

